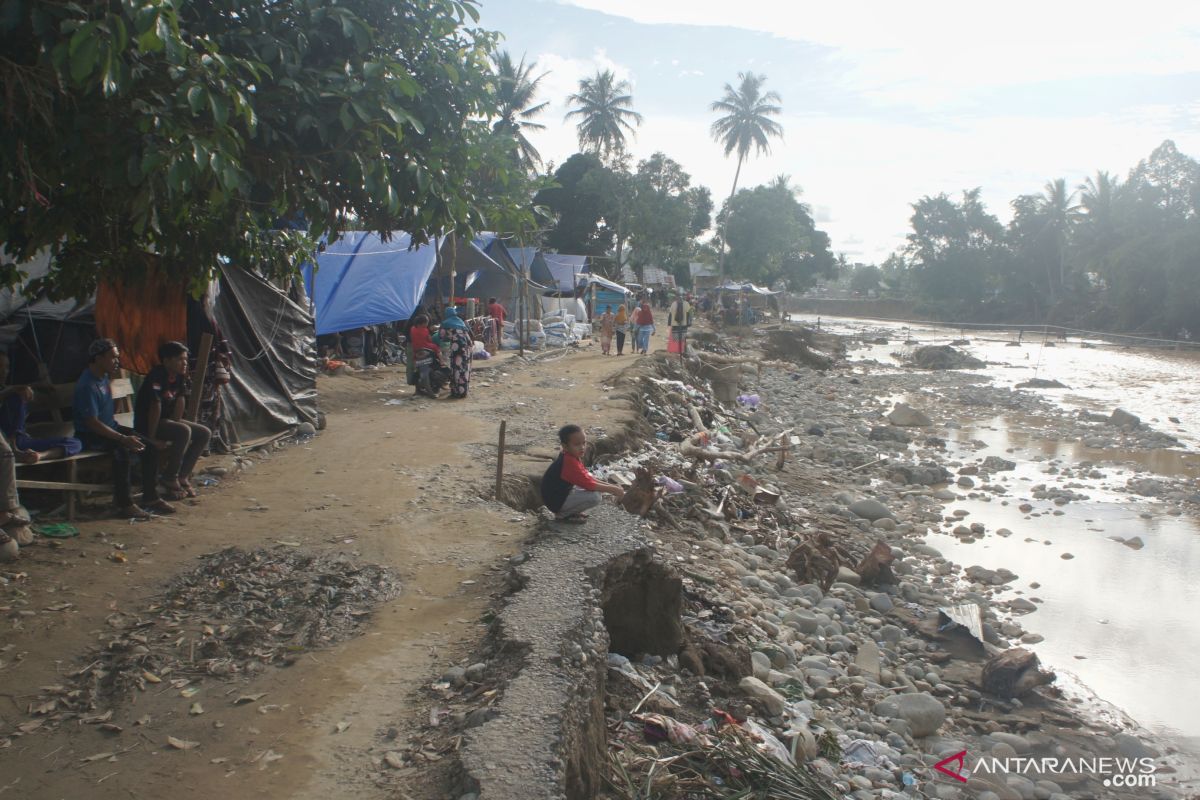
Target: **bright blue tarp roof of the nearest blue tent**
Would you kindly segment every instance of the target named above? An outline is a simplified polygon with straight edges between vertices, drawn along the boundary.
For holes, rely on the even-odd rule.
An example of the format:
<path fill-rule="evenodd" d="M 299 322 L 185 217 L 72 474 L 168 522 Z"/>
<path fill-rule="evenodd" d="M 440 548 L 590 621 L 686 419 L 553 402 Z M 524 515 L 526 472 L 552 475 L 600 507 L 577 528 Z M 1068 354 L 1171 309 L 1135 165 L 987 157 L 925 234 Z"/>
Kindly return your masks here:
<path fill-rule="evenodd" d="M 385 242 L 378 234 L 353 230 L 317 254 L 316 273 L 306 264 L 317 333 L 408 319 L 437 263 L 434 245 L 409 249 L 410 243 L 403 233 Z"/>

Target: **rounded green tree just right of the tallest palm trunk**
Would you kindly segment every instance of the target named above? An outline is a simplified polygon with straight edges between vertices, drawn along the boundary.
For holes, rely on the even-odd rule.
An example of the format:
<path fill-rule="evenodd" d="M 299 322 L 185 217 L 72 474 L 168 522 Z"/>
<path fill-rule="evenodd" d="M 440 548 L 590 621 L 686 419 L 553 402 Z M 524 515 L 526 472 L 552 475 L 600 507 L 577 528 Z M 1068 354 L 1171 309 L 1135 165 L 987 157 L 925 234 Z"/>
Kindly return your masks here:
<path fill-rule="evenodd" d="M 742 190 L 718 219 L 730 248 L 725 260 L 730 275 L 768 285 L 784 279 L 797 291 L 814 285 L 818 276 L 836 275 L 829 236 L 817 230 L 786 181 Z"/>

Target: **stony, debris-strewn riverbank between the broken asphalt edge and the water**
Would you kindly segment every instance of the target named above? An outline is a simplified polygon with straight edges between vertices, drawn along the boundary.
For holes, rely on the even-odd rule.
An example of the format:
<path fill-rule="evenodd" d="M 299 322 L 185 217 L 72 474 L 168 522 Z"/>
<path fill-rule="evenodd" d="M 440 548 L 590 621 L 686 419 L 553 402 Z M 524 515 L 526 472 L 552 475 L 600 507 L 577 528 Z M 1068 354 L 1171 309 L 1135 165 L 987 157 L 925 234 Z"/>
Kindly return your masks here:
<path fill-rule="evenodd" d="M 649 517 L 664 558 L 685 576 L 691 642 L 666 658 L 608 655 L 614 760 L 632 787 L 624 796 L 646 784 L 686 796 L 671 787 L 727 782 L 724 762 L 703 757 L 722 752 L 714 709 L 781 762 L 823 776 L 835 796 L 1184 796 L 1171 786 L 1182 764 L 1169 747 L 1092 718 L 1019 649 L 1039 639 L 1021 625 L 1039 599 L 1014 590 L 1016 575 L 954 564 L 926 541 L 938 530 L 964 541 L 1013 535 L 961 510 L 947 515 L 960 498 L 1020 504 L 1036 525 L 1085 499 L 1082 479 L 1105 476 L 1097 464 L 1048 463 L 1043 485 L 1019 485 L 1008 453 L 956 440 L 964 419 L 1004 413 L 1030 437 L 1090 447 L 1159 447 L 1174 441 L 1168 434 L 1122 415 L 1064 415 L 968 373 L 863 362 L 742 369 L 740 407 L 722 405 L 703 375 L 718 368 L 727 380 L 727 360 L 706 360 L 660 361 L 636 379 L 655 440 L 607 465 L 630 479 L 649 467 L 680 489 Z M 685 455 L 697 423 L 726 457 Z M 781 469 L 774 451 L 738 457 L 781 441 Z M 1182 477 L 1105 488 L 1152 495 L 1164 513 L 1195 513 L 1200 501 Z M 965 783 L 935 768 L 947 758 Z M 1114 786 L 1128 782 L 1124 772 L 1157 786 Z"/>

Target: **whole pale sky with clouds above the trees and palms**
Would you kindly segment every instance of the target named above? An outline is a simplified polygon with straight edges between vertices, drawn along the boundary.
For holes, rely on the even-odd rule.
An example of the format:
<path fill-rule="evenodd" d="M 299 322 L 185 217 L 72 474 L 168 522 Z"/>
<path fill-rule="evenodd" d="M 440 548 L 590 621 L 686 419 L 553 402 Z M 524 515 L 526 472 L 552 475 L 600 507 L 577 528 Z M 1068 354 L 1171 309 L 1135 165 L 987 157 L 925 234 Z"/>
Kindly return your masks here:
<path fill-rule="evenodd" d="M 527 136 L 546 161 L 578 151 L 566 97 L 610 68 L 661 150 L 718 205 L 736 167 L 709 104 L 738 73 L 767 76 L 785 134 L 739 186 L 791 176 L 835 253 L 881 263 L 911 204 L 982 187 L 989 209 L 1052 179 L 1124 176 L 1164 139 L 1200 157 L 1200 4 L 1141 0 L 481 0 L 481 25 L 546 73 Z"/>

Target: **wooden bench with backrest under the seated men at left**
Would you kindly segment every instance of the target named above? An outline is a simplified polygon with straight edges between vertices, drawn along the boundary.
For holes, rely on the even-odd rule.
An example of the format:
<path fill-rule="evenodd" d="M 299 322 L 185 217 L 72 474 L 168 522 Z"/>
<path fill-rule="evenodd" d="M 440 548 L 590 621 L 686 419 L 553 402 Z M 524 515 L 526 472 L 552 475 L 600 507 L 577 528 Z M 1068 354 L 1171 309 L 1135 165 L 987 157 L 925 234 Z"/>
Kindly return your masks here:
<path fill-rule="evenodd" d="M 127 428 L 133 427 L 133 383 L 128 378 L 114 378 L 112 380 L 113 405 L 116 409 L 114 415 L 116 423 Z M 52 391 L 53 390 L 53 391 Z M 30 403 L 31 411 L 43 411 L 49 415 L 48 422 L 32 422 L 28 426 L 26 433 L 34 439 L 58 439 L 74 435 L 74 384 L 53 384 L 50 387 L 36 389 L 34 402 Z M 66 411 L 66 414 L 64 414 Z M 80 493 L 85 492 L 113 492 L 112 483 L 80 483 L 79 463 L 95 458 L 112 458 L 110 453 L 98 450 L 84 450 L 74 456 L 65 458 L 42 458 L 35 464 L 17 464 L 17 488 L 18 489 L 48 489 L 52 492 L 64 492 L 67 495 L 67 519 L 74 519 L 76 501 Z M 42 470 L 55 464 L 66 464 L 67 480 L 65 481 L 36 481 L 20 477 L 22 471 L 32 469 Z"/>

